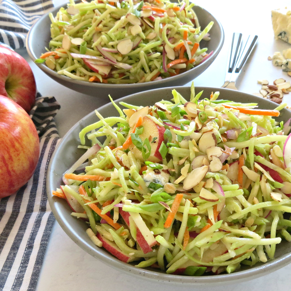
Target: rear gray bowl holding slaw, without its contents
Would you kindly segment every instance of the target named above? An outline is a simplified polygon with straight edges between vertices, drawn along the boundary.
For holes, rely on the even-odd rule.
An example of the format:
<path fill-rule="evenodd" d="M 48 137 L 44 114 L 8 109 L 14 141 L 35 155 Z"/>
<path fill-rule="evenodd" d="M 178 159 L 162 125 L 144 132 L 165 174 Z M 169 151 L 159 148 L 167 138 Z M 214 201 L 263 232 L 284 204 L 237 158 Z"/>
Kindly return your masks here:
<path fill-rule="evenodd" d="M 54 16 L 61 7 L 66 7 L 66 5 L 54 8 L 54 10 L 52 11 Z M 155 88 L 185 85 L 197 76 L 199 76 L 211 65 L 211 63 L 215 60 L 218 53 L 220 52 L 224 41 L 224 32 L 220 22 L 215 19 L 208 11 L 201 8 L 200 6 L 194 6 L 193 9 L 195 10 L 199 19 L 201 30 L 204 29 L 210 21 L 214 22 L 214 25 L 210 30 L 211 40 L 209 42 L 204 40 L 200 42 L 201 48 L 207 47 L 207 51 L 213 51 L 213 54 L 202 64 L 177 76 L 168 77 L 159 81 L 139 84 L 100 84 L 95 82 L 74 80 L 65 75 L 59 75 L 57 72 L 49 69 L 43 63 L 38 63 L 37 65 L 43 72 L 45 72 L 49 77 L 51 77 L 58 83 L 77 92 L 103 98 L 108 98 L 108 94 L 110 94 L 111 96 L 115 96 L 116 99 L 136 92 L 151 90 Z M 49 47 L 49 40 L 51 35 L 50 24 L 51 21 L 47 13 L 31 27 L 27 35 L 26 48 L 29 56 L 33 61 L 35 61 L 37 58 L 40 57 L 42 53 L 45 52 L 45 47 Z"/>

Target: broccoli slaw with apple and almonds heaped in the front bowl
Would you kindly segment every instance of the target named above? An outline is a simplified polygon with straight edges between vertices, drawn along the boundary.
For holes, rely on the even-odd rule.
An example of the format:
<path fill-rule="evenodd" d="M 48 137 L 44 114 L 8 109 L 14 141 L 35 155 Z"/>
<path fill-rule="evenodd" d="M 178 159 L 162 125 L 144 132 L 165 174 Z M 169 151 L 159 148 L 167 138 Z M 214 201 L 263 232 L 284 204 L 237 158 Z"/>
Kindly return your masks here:
<path fill-rule="evenodd" d="M 109 96 L 119 116 L 96 110 L 100 120 L 79 134 L 86 152 L 53 195 L 123 262 L 231 273 L 291 241 L 290 119 L 274 119 L 286 104 L 263 110 L 202 93 L 192 83 L 190 102 L 173 90 L 171 101 L 119 102 L 123 110 Z"/>

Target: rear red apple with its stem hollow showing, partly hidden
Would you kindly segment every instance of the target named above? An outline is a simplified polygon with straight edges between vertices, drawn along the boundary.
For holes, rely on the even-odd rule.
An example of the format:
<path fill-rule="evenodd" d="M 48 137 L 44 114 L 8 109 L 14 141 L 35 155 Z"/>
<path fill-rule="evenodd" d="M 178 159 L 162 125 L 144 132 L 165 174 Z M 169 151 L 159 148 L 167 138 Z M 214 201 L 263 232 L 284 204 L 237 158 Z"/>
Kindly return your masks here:
<path fill-rule="evenodd" d="M 36 82 L 22 56 L 0 45 L 0 94 L 29 112 L 36 99 Z"/>

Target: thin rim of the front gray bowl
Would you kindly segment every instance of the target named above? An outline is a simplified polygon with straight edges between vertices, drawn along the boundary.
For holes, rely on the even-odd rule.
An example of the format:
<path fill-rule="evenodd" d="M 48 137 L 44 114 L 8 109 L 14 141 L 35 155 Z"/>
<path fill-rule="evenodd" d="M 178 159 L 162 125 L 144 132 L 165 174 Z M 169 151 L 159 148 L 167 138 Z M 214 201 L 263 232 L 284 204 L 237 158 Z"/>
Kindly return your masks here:
<path fill-rule="evenodd" d="M 152 95 L 157 95 L 155 94 L 157 91 L 163 91 L 163 90 L 173 90 L 173 89 L 178 89 L 179 88 L 191 88 L 190 86 L 175 86 L 175 87 L 166 87 L 166 88 L 157 88 L 157 89 L 152 89 L 144 92 L 152 92 Z M 213 92 L 215 91 L 226 91 L 229 93 L 230 92 L 236 92 L 238 93 L 239 91 L 236 90 L 231 90 L 231 89 L 226 89 L 226 88 L 215 88 L 215 87 L 206 87 L 206 86 L 201 86 L 201 87 L 196 87 L 197 90 L 203 90 L 205 88 L 210 88 Z M 196 89 L 195 88 L 195 89 Z M 124 101 L 126 102 L 129 97 L 139 97 L 142 95 L 144 92 L 139 92 L 139 93 L 134 93 L 131 95 L 127 95 L 125 97 L 119 98 L 118 100 L 115 100 L 115 102 L 120 102 Z M 239 94 L 242 94 L 244 96 L 249 96 L 252 97 L 253 99 L 257 100 L 258 102 L 260 101 L 260 97 L 251 95 L 248 93 L 244 92 L 239 92 Z M 229 98 L 231 99 L 231 98 Z M 272 105 L 272 107 L 276 108 L 278 104 L 266 100 L 269 104 Z M 265 101 L 264 101 L 265 102 Z M 107 106 L 109 106 L 110 102 L 103 105 L 102 107 L 99 107 L 98 109 L 104 109 Z M 283 109 L 287 110 L 287 109 Z M 192 277 L 192 276 L 184 276 L 184 275 L 173 275 L 173 274 L 165 274 L 165 273 L 159 273 L 155 272 L 152 270 L 148 269 L 141 269 L 138 267 L 135 267 L 134 265 L 131 265 L 129 263 L 125 263 L 114 257 L 113 255 L 109 255 L 106 251 L 104 251 L 102 248 L 96 248 L 95 245 L 89 244 L 88 242 L 79 239 L 77 232 L 72 228 L 70 225 L 66 224 L 62 220 L 62 213 L 57 212 L 56 210 L 56 205 L 52 195 L 49 195 L 51 193 L 51 187 L 50 184 L 52 183 L 52 177 L 53 177 L 53 171 L 52 171 L 52 164 L 54 164 L 55 157 L 58 155 L 58 152 L 61 151 L 62 145 L 66 143 L 67 139 L 71 136 L 72 132 L 75 130 L 76 127 L 79 126 L 79 124 L 86 120 L 89 116 L 93 115 L 92 111 L 91 113 L 87 114 L 84 116 L 81 120 L 79 120 L 74 126 L 71 127 L 71 129 L 65 134 L 65 136 L 61 139 L 60 143 L 58 143 L 56 149 L 54 150 L 54 153 L 51 157 L 51 160 L 49 162 L 49 166 L 47 168 L 47 196 L 48 196 L 48 201 L 49 205 L 52 209 L 52 212 L 58 221 L 59 225 L 61 228 L 65 231 L 65 233 L 74 241 L 76 244 L 78 244 L 84 251 L 92 255 L 93 257 L 101 260 L 103 263 L 106 265 L 113 267 L 119 271 L 125 272 L 126 274 L 132 274 L 134 276 L 137 276 L 141 278 L 141 276 L 145 276 L 145 278 L 150 279 L 152 281 L 161 281 L 165 283 L 170 283 L 170 284 L 196 284 L 196 285 L 202 285 L 202 284 L 213 284 L 213 283 L 231 283 L 232 281 L 243 281 L 243 280 L 251 280 L 254 278 L 258 278 L 260 276 L 269 274 L 271 272 L 274 272 L 286 265 L 288 265 L 291 262 L 291 250 L 284 254 L 279 256 L 278 258 L 275 258 L 273 260 L 267 261 L 266 263 L 263 263 L 262 265 L 258 265 L 254 268 L 251 269 L 245 269 L 242 271 L 234 272 L 231 274 L 222 274 L 222 275 L 211 275 L 211 276 L 201 276 L 201 277 Z"/>

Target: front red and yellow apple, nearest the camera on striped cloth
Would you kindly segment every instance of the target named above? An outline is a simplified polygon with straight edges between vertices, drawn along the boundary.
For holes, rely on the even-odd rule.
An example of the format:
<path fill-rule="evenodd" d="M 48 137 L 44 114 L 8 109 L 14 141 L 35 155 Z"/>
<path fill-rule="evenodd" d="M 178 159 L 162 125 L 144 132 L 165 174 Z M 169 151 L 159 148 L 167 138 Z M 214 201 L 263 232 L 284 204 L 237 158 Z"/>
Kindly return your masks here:
<path fill-rule="evenodd" d="M 22 187 L 38 163 L 39 139 L 29 115 L 0 95 L 0 198 Z"/>

